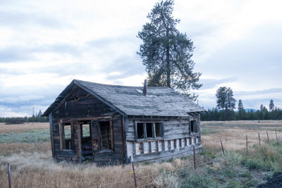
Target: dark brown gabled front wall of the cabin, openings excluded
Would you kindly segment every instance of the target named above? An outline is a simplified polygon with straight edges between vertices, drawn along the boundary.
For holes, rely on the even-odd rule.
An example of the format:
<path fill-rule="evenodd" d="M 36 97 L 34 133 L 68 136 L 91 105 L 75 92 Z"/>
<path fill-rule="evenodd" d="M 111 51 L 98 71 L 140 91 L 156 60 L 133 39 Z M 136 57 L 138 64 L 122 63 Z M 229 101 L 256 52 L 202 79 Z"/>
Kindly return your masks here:
<path fill-rule="evenodd" d="M 123 163 L 123 116 L 116 113 L 112 108 L 104 104 L 99 99 L 85 92 L 85 90 L 74 87 L 72 92 L 61 102 L 59 108 L 55 109 L 50 118 L 51 144 L 53 146 L 53 156 L 58 161 L 68 160 L 80 162 L 81 158 L 81 138 L 80 120 L 90 120 L 99 122 L 109 120 L 113 129 L 113 146 L 111 152 L 96 152 L 93 161 L 97 163 Z M 73 124 L 73 149 L 66 151 L 61 149 L 60 123 L 70 122 Z"/>

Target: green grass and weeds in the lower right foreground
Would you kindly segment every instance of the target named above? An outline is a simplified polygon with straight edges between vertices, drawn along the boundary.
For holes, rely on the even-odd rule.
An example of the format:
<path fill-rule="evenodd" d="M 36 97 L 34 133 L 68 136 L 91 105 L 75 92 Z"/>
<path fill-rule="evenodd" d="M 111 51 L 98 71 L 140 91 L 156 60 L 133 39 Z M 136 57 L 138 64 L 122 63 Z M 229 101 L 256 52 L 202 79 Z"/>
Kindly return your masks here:
<path fill-rule="evenodd" d="M 256 187 L 261 183 L 258 180 L 269 180 L 282 171 L 280 142 L 253 146 L 247 156 L 240 151 L 226 151 L 226 157 L 216 157 L 207 151 L 200 155 L 216 161 L 197 172 L 192 169 L 179 172 L 180 187 Z"/>

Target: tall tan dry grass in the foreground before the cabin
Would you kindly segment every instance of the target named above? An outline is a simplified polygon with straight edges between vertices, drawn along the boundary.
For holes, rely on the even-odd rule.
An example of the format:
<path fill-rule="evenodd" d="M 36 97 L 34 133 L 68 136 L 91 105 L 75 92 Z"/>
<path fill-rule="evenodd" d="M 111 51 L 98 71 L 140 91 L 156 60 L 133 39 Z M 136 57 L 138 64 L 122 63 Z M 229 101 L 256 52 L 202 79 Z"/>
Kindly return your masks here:
<path fill-rule="evenodd" d="M 203 163 L 204 158 L 198 162 Z M 106 187 L 133 187 L 131 165 L 97 166 L 94 163 L 73 164 L 63 161 L 56 163 L 51 158 L 51 152 L 20 152 L 11 156 L 0 156 L 0 187 L 8 186 L 7 163 L 11 163 L 13 187 L 95 187 L 109 184 Z M 191 158 L 171 162 L 137 164 L 135 172 L 138 186 L 153 182 L 160 187 L 158 176 L 145 178 L 163 171 L 176 170 L 184 166 L 192 166 Z M 118 182 L 128 180 L 118 184 Z M 166 182 L 169 183 L 169 182 Z M 152 184 L 149 186 L 152 187 Z"/>

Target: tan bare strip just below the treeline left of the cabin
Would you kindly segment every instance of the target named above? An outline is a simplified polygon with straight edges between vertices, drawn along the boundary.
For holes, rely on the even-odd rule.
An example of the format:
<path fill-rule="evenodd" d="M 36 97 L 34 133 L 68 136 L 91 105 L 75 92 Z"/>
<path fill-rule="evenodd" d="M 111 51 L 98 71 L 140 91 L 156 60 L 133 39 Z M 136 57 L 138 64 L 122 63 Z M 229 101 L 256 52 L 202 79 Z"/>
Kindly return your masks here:
<path fill-rule="evenodd" d="M 12 124 L 5 125 L 5 123 L 0 123 L 0 134 L 1 133 L 18 133 L 27 132 L 27 130 L 41 130 L 49 129 L 49 123 L 25 123 L 25 124 Z"/>

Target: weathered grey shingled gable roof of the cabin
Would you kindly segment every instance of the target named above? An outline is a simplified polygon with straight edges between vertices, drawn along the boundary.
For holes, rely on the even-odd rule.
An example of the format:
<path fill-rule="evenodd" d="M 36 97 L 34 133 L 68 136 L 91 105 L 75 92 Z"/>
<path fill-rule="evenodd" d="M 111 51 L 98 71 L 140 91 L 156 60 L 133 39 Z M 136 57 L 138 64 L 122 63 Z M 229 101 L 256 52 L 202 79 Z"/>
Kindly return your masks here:
<path fill-rule="evenodd" d="M 188 113 L 204 111 L 204 108 L 169 87 L 148 87 L 147 96 L 144 96 L 143 87 L 73 80 L 43 115 L 49 115 L 75 85 L 123 115 L 188 116 Z"/>

